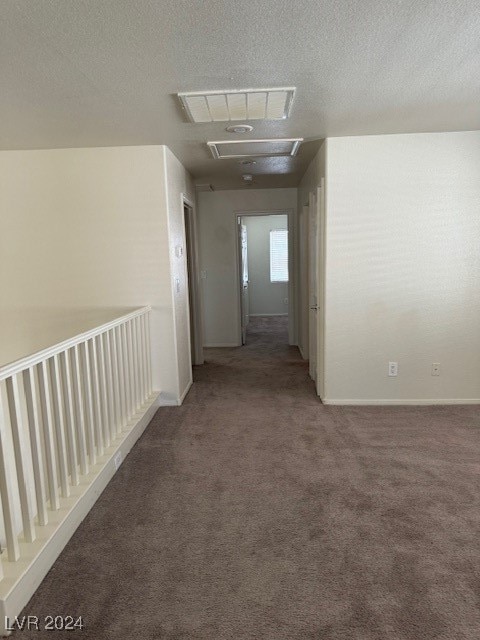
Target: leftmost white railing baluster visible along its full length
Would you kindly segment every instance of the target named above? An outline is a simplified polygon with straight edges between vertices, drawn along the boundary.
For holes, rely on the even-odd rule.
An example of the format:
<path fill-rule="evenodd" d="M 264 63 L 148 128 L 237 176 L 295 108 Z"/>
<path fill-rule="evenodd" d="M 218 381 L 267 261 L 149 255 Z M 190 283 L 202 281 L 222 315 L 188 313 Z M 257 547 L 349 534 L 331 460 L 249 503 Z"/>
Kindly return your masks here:
<path fill-rule="evenodd" d="M 15 467 L 17 469 L 18 493 L 20 496 L 20 510 L 22 512 L 23 535 L 27 542 L 33 542 L 36 536 L 35 525 L 33 523 L 34 515 L 28 487 L 28 448 L 25 439 L 28 433 L 28 416 L 27 400 L 23 388 L 23 376 L 18 373 L 11 378 L 7 378 L 6 383 Z"/>

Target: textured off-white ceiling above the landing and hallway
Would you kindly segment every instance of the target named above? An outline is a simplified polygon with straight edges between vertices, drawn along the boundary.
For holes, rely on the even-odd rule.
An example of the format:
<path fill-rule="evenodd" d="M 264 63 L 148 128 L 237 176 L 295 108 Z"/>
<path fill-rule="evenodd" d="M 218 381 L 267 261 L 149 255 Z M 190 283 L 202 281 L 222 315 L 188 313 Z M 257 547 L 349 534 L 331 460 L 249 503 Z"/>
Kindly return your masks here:
<path fill-rule="evenodd" d="M 0 146 L 166 144 L 197 182 L 295 186 L 326 136 L 480 128 L 478 0 L 1 0 Z M 248 170 L 204 142 L 178 91 L 296 86 L 304 137 Z"/>

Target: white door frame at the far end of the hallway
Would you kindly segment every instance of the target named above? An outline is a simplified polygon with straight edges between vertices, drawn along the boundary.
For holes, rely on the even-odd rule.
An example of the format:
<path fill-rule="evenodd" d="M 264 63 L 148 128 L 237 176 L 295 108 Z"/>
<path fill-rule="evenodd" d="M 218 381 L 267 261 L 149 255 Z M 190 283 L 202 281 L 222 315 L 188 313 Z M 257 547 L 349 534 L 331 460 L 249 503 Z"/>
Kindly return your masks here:
<path fill-rule="evenodd" d="M 296 326 L 297 326 L 297 287 L 296 287 L 296 251 L 295 251 L 295 212 L 293 209 L 269 209 L 269 210 L 253 210 L 253 211 L 234 211 L 233 224 L 235 225 L 235 264 L 236 264 L 236 289 L 237 289 L 237 339 L 238 346 L 242 345 L 242 302 L 240 290 L 241 279 L 241 256 L 238 250 L 238 220 L 246 217 L 260 216 L 287 216 L 288 221 L 288 344 L 296 345 Z"/>

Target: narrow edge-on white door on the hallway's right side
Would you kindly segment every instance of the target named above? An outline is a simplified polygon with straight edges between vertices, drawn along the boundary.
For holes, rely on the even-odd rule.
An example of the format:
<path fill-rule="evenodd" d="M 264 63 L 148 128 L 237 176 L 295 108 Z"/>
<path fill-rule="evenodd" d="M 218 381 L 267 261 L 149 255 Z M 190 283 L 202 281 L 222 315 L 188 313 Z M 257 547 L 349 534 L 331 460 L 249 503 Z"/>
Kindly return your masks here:
<path fill-rule="evenodd" d="M 317 207 L 314 193 L 308 197 L 308 371 L 317 379 Z"/>

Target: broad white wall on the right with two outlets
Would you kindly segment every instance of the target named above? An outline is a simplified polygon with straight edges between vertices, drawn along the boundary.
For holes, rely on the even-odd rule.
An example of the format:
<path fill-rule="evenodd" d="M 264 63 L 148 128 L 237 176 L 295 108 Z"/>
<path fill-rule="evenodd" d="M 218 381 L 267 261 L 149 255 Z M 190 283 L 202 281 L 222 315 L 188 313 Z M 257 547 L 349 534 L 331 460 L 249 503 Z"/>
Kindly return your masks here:
<path fill-rule="evenodd" d="M 326 197 L 326 400 L 478 402 L 480 132 L 328 139 Z"/>

